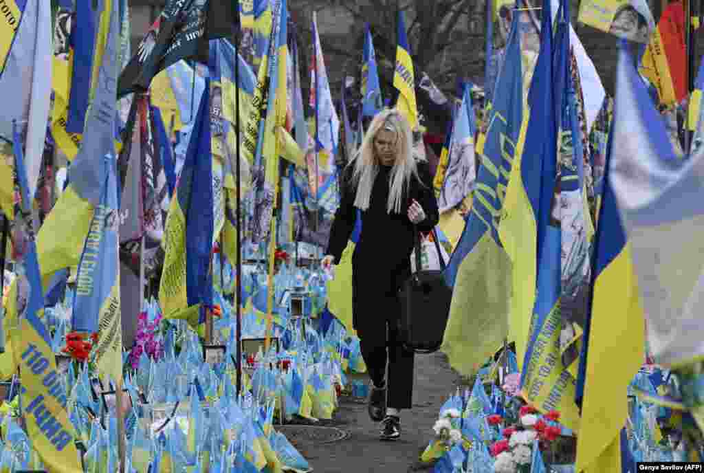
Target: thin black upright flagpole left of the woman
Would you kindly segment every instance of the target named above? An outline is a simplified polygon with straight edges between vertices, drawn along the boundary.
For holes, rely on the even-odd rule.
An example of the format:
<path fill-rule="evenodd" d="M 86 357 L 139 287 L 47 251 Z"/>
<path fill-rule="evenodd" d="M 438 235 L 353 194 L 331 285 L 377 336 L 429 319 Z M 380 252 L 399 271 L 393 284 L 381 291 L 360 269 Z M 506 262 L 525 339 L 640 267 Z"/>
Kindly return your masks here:
<path fill-rule="evenodd" d="M 237 396 L 242 392 L 242 226 L 241 226 L 241 167 L 239 164 L 239 44 L 240 44 L 240 29 L 234 34 L 234 122 L 237 135 L 235 137 L 235 163 L 234 163 L 234 181 L 237 183 L 237 196 L 235 196 L 235 211 L 237 212 L 237 256 L 235 258 L 235 289 L 234 289 L 234 305 L 235 305 L 235 341 L 237 343 Z"/>

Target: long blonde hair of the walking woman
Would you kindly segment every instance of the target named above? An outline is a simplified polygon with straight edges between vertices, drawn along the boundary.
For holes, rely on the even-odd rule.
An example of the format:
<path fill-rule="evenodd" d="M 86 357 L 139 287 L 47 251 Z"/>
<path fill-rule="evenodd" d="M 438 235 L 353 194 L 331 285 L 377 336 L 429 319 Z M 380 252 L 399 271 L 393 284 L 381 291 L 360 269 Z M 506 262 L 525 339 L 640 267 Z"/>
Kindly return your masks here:
<path fill-rule="evenodd" d="M 348 165 L 354 166 L 352 182 L 357 187 L 354 206 L 361 210 L 369 208 L 372 187 L 379 173 L 379 159 L 374 151 L 374 139 L 380 130 L 396 132 L 396 162 L 391 168 L 391 185 L 386 212 L 401 213 L 403 194 L 408 191 L 411 177 L 420 182 L 416 159 L 413 156 L 413 134 L 406 118 L 396 108 L 385 108 L 377 113 L 369 125 L 362 145 L 351 158 Z"/>

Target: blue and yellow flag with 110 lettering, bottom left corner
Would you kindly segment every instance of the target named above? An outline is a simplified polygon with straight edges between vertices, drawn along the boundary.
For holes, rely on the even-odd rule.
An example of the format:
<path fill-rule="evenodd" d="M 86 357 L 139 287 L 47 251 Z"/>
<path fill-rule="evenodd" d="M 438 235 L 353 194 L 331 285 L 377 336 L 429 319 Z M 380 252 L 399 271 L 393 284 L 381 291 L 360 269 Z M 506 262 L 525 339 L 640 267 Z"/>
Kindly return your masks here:
<path fill-rule="evenodd" d="M 37 246 L 32 230 L 27 173 L 22 156 L 22 141 L 15 134 L 15 191 L 20 199 L 15 203 L 15 232 L 21 232 L 25 245 L 18 257 L 20 290 L 15 301 L 22 308 L 20 322 L 15 325 L 13 339 L 14 363 L 22 373 L 23 416 L 32 447 L 39 453 L 51 473 L 79 473 L 78 451 L 75 446 L 75 428 L 66 412 L 67 398 L 63 381 L 56 370 L 56 357 L 51 351 L 51 337 L 39 318 L 44 309 L 42 282 L 39 279 Z M 17 235 L 17 233 L 15 233 Z M 15 244 L 15 248 L 20 248 Z"/>

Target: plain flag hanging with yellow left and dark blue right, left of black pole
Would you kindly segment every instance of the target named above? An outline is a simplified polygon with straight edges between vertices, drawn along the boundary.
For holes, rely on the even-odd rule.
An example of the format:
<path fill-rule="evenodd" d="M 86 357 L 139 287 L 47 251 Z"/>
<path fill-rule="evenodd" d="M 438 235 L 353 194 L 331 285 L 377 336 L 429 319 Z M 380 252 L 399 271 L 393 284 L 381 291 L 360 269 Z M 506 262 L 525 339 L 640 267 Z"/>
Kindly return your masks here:
<path fill-rule="evenodd" d="M 213 159 L 210 151 L 210 87 L 203 90 L 194 130 L 171 199 L 164 229 L 164 269 L 159 303 L 165 317 L 202 329 L 213 305 Z"/>

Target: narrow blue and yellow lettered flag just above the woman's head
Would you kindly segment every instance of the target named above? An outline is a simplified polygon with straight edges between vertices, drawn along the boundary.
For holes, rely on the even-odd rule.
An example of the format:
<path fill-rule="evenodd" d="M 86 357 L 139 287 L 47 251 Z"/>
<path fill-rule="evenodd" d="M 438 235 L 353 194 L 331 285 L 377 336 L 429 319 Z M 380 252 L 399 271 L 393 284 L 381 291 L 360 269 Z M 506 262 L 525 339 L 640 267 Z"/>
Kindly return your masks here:
<path fill-rule="evenodd" d="M 394 87 L 398 89 L 396 108 L 408 120 L 411 130 L 417 130 L 418 108 L 415 103 L 415 75 L 413 59 L 410 58 L 410 47 L 406 37 L 406 21 L 403 11 L 398 11 L 396 24 L 396 70 L 394 70 Z"/>

